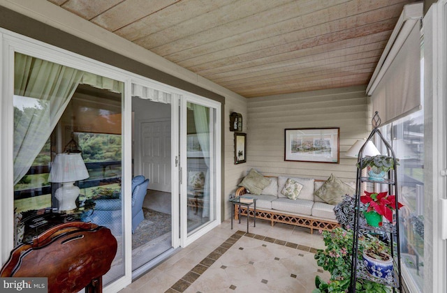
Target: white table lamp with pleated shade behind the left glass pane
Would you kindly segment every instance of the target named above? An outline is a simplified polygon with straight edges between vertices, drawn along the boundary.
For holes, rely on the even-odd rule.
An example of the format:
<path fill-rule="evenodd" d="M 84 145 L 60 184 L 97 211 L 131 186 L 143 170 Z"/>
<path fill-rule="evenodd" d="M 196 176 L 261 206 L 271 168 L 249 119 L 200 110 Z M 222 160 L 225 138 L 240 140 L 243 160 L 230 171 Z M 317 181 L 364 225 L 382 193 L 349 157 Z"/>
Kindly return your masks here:
<path fill-rule="evenodd" d="M 89 172 L 85 167 L 80 153 L 59 153 L 54 158 L 48 181 L 62 183 L 56 190 L 56 198 L 59 201 L 59 211 L 71 211 L 76 209 L 76 199 L 80 189 L 73 183 L 89 178 Z"/>

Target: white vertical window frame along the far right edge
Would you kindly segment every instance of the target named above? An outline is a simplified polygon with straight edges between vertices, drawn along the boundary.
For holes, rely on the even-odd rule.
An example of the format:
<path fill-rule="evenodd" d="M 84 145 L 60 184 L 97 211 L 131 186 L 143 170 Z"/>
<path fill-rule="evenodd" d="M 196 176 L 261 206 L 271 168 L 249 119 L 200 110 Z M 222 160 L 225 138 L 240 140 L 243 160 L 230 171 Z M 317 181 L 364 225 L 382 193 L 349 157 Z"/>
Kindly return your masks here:
<path fill-rule="evenodd" d="M 447 1 L 432 4 L 423 20 L 425 117 L 424 292 L 446 292 L 447 223 Z"/>

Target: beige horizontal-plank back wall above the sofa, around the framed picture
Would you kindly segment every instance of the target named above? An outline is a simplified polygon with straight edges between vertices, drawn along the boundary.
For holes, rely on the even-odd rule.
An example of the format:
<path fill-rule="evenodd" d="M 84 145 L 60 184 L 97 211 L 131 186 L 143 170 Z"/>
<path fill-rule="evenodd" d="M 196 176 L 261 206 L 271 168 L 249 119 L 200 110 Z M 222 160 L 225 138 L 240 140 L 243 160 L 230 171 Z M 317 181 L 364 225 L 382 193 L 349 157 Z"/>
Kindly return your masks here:
<path fill-rule="evenodd" d="M 344 153 L 369 135 L 366 87 L 349 87 L 248 99 L 247 164 L 265 175 L 355 181 L 356 158 Z M 285 128 L 340 128 L 339 164 L 284 160 Z"/>

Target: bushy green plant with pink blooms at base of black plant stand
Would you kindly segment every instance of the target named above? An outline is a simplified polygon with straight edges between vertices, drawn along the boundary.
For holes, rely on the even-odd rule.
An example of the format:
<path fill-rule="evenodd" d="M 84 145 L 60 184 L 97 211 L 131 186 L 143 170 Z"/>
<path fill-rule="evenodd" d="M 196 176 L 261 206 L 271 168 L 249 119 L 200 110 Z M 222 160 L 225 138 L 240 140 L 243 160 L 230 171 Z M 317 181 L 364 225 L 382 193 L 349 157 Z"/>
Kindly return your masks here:
<path fill-rule="evenodd" d="M 375 243 L 376 239 L 370 237 L 372 236 L 360 236 L 358 241 L 360 255 L 365 247 L 372 246 L 372 243 Z M 312 293 L 348 292 L 351 281 L 353 230 L 335 228 L 332 232 L 324 231 L 323 241 L 326 248 L 317 251 L 315 260 L 318 266 L 321 266 L 325 271 L 329 271 L 330 280 L 326 283 L 320 276 L 316 276 L 316 288 Z M 390 287 L 359 278 L 356 283 L 356 291 L 388 293 Z"/>

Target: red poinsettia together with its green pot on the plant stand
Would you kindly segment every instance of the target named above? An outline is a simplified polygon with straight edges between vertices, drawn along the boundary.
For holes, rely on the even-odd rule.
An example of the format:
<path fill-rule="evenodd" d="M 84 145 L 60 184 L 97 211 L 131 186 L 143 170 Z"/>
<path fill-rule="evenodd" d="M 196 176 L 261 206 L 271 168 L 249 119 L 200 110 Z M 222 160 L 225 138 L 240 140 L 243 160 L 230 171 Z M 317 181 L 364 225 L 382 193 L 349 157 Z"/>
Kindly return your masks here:
<path fill-rule="evenodd" d="M 383 217 L 393 223 L 393 211 L 396 209 L 395 195 L 388 195 L 388 192 L 368 193 L 365 191 L 365 195 L 360 197 L 360 202 L 367 206 L 364 214 L 368 225 L 372 227 L 381 226 Z M 397 202 L 397 209 L 402 206 L 404 205 Z"/>

